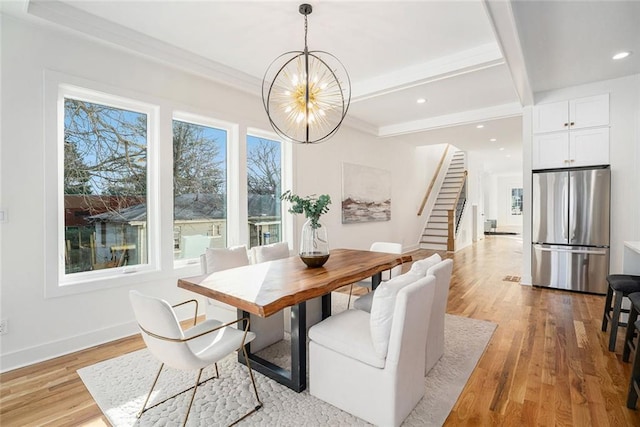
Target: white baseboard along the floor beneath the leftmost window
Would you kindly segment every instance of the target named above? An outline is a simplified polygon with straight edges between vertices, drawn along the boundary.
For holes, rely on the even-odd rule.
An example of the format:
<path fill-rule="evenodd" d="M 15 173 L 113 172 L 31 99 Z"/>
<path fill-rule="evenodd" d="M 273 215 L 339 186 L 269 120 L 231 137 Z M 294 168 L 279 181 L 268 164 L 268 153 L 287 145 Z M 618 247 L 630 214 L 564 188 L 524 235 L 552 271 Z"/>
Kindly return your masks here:
<path fill-rule="evenodd" d="M 0 373 L 44 362 L 139 333 L 135 321 L 0 355 Z"/>

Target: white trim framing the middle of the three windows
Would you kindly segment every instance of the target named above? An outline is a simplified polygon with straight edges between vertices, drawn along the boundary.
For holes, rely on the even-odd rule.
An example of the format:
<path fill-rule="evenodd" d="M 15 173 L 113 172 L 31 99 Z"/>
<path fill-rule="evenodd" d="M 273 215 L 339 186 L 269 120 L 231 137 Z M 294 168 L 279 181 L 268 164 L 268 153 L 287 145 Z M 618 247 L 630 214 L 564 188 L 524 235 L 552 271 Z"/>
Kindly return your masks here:
<path fill-rule="evenodd" d="M 239 221 L 238 221 L 238 214 L 234 212 L 234 208 L 233 206 L 237 205 L 237 202 L 233 204 L 231 203 L 231 200 L 237 199 L 236 195 L 232 195 L 232 191 L 237 192 L 237 185 L 235 185 L 232 181 L 232 177 L 233 176 L 237 176 L 237 168 L 238 168 L 238 156 L 236 153 L 236 149 L 234 149 L 234 146 L 237 146 L 237 141 L 238 141 L 238 125 L 234 124 L 234 123 L 230 123 L 230 122 L 226 122 L 223 120 L 218 120 L 218 119 L 213 119 L 211 117 L 208 117 L 206 115 L 203 114 L 194 114 L 194 113 L 190 113 L 190 112 L 186 112 L 186 111 L 179 111 L 179 110 L 175 110 L 173 112 L 173 116 L 172 116 L 172 120 L 171 120 L 171 128 L 172 128 L 172 144 L 173 144 L 173 120 L 178 120 L 181 122 L 187 122 L 187 123 L 192 123 L 195 125 L 201 125 L 201 126 L 207 126 L 207 127 L 212 127 L 212 128 L 217 128 L 217 129 L 221 129 L 227 132 L 227 147 L 226 147 L 226 153 L 227 153 L 227 157 L 226 157 L 226 161 L 227 161 L 227 176 L 226 176 L 226 183 L 227 183 L 227 246 L 232 246 L 232 244 L 229 242 L 229 236 L 232 234 L 231 230 L 237 228 L 240 226 Z M 232 152 L 234 154 L 232 154 Z M 235 155 L 235 156 L 234 156 Z M 171 162 L 173 163 L 173 158 L 171 159 Z M 172 180 L 173 182 L 173 177 Z M 232 190 L 233 189 L 233 190 Z M 173 218 L 173 186 L 171 189 L 171 222 L 174 222 L 174 218 Z M 234 228 L 232 228 L 234 227 Z M 174 259 L 173 260 L 173 267 L 175 269 L 179 269 L 179 268 L 185 268 L 185 267 L 191 267 L 194 264 L 199 264 L 200 263 L 200 258 L 190 258 L 190 259 Z"/>

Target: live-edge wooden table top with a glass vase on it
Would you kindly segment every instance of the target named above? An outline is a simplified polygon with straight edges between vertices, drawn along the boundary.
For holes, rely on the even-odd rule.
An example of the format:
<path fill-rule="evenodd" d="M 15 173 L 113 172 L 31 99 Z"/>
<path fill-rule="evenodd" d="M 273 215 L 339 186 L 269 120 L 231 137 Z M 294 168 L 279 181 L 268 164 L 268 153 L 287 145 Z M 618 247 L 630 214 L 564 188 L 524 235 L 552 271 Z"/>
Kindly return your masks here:
<path fill-rule="evenodd" d="M 267 317 L 411 260 L 410 255 L 334 249 L 319 268 L 308 268 L 295 255 L 178 279 L 178 287 Z"/>

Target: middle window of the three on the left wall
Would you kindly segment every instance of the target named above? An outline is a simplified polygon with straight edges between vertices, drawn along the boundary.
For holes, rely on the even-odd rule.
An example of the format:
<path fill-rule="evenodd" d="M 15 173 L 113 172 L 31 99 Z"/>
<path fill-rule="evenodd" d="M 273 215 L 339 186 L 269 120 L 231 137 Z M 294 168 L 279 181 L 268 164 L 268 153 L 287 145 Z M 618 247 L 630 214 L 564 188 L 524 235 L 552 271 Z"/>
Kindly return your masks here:
<path fill-rule="evenodd" d="M 227 246 L 227 139 L 207 119 L 173 120 L 174 260 Z"/>

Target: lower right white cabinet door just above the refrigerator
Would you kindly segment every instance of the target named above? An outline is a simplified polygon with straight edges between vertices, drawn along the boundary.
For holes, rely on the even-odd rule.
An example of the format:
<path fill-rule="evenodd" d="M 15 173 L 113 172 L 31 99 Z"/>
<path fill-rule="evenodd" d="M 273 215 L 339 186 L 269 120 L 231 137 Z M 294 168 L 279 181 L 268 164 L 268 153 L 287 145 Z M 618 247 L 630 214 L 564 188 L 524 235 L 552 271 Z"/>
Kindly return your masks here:
<path fill-rule="evenodd" d="M 609 128 L 583 129 L 570 132 L 569 166 L 609 164 Z"/>

